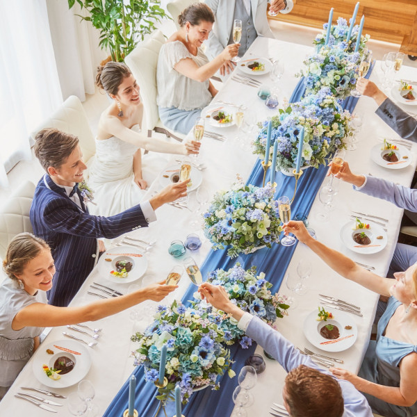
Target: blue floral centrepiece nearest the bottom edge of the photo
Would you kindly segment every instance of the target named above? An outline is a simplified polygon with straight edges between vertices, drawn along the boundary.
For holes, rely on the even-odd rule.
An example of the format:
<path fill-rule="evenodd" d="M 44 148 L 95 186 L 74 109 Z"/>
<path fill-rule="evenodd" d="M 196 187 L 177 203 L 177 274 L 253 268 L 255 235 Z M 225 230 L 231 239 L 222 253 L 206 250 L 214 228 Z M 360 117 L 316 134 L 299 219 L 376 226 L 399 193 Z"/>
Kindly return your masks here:
<path fill-rule="evenodd" d="M 145 379 L 156 382 L 161 361 L 161 348 L 167 344 L 165 377 L 168 384 L 159 389 L 158 400 L 165 402 L 172 397 L 172 391 L 179 384 L 183 402 L 187 402 L 193 390 L 204 386 L 219 389 L 218 377 L 226 371 L 234 377 L 229 368 L 232 361 L 230 351 L 222 342 L 224 330 L 215 324 L 211 313 L 186 308 L 174 301 L 171 306 L 158 306 L 155 321 L 145 332 L 136 333 L 132 341 L 139 342 L 133 352 L 135 366 L 145 366 Z"/>

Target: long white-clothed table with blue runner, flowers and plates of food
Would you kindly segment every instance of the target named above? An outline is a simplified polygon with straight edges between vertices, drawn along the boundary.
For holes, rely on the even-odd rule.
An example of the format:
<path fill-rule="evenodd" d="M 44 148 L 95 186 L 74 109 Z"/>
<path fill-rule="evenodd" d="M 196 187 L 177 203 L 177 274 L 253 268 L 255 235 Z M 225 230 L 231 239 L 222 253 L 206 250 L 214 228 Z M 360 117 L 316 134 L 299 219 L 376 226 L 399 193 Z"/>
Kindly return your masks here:
<path fill-rule="evenodd" d="M 188 197 L 159 208 L 158 221 L 147 229 L 108 242 L 106 252 L 70 305 L 119 297 L 132 291 L 132 286 L 163 279 L 179 288 L 161 303 L 149 301 L 114 318 L 80 323 L 72 329 L 52 329 L 0 403 L 1 414 L 19 409 L 19 414 L 48 415 L 56 412 L 56 407 L 63 416 L 93 416 L 96 412 L 129 417 L 254 416 L 260 411 L 288 415 L 281 397 L 285 371 L 277 361 L 268 359 L 263 347 L 247 340 L 236 323 L 223 318 L 198 297 L 196 291 L 202 281 L 222 284 L 238 305 L 275 323 L 281 334 L 323 368 L 342 363 L 344 368 L 358 372 L 368 345 L 377 295 L 339 277 L 295 238 L 291 245 L 281 244 L 282 223 L 300 215 L 310 233 L 325 245 L 343 252 L 363 268 L 384 275 L 395 249 L 402 210 L 382 200 L 376 205 L 375 199 L 358 193 L 349 184 L 327 179 L 329 154 L 344 147 L 345 136 L 352 136 L 350 113 L 354 110 L 366 123 L 354 133 L 359 139 L 357 149 L 347 150 L 343 156 L 352 171 L 370 172 L 409 186 L 417 161 L 414 144 L 397 138 L 388 126 L 382 125 L 374 114 L 373 101 L 347 95 L 354 90 L 353 83 L 349 88 L 345 83 L 335 87 L 334 94 L 345 99 L 342 105 L 328 92 L 320 95 L 320 90 L 314 90 L 319 82 L 311 72 L 314 61 L 304 57 L 314 56 L 318 45 L 323 46 L 320 54 L 329 56 L 333 51 L 336 56 L 334 45 L 328 49 L 325 46 L 337 26 L 340 28 L 343 22 L 320 33 L 314 48 L 268 38 L 254 41 L 202 113 L 202 121 L 188 135 L 202 141 L 201 154 L 198 158 L 173 156 L 149 186 L 145 199 L 168 183 L 185 178 L 191 179 Z M 350 31 L 352 42 L 348 48 L 352 50 L 348 52 L 358 53 L 355 65 L 361 64 L 366 49 L 367 38 L 361 36 L 361 26 L 363 22 L 358 31 Z M 283 79 L 278 77 L 281 81 L 272 74 L 274 59 L 285 63 Z M 346 59 L 341 57 L 341 63 Z M 253 68 L 260 70 L 249 67 L 255 63 L 258 66 Z M 303 65 L 309 71 L 300 72 Z M 370 63 L 364 75 L 375 81 L 383 72 L 381 68 L 378 63 Z M 416 70 L 404 68 L 401 77 L 417 79 Z M 299 81 L 296 73 L 304 78 Z M 258 90 L 261 85 L 273 90 L 277 83 L 281 90 L 279 105 L 268 108 Z M 318 102 L 311 94 L 319 94 Z M 281 97 L 289 99 L 283 101 Z M 304 124 L 307 113 L 313 110 L 321 113 L 320 117 L 312 124 Z M 243 113 L 242 120 L 238 113 Z M 249 129 L 245 126 L 245 119 L 250 118 L 247 113 L 252 113 L 255 120 Z M 329 122 L 332 124 L 326 127 Z M 295 131 L 293 126 L 302 129 Z M 314 129 L 326 131 L 332 138 L 325 145 L 322 142 L 320 149 L 315 148 L 316 154 L 309 139 Z M 275 140 L 277 131 L 291 131 L 291 157 L 284 155 L 285 144 Z M 393 150 L 400 161 L 408 156 L 406 162 L 381 162 L 381 152 L 391 150 L 381 149 L 385 143 L 381 138 L 397 146 Z M 303 167 L 302 161 L 309 163 Z M 322 193 L 320 190 L 328 188 L 329 181 L 336 192 Z M 280 197 L 287 199 L 279 203 Z M 247 204 L 249 201 L 252 203 Z M 193 218 L 195 211 L 199 215 Z M 320 213 L 327 215 L 320 220 Z M 228 224 L 231 219 L 234 226 Z M 355 229 L 358 220 L 364 227 Z M 370 243 L 358 246 L 355 234 L 366 235 Z M 250 244 L 244 245 L 246 241 Z M 302 262 L 306 259 L 307 266 Z M 286 284 L 288 275 L 295 277 L 292 284 Z M 321 318 L 320 311 L 327 314 L 327 320 L 317 320 Z M 196 330 L 193 336 L 186 332 L 188 327 Z M 337 336 L 330 341 L 320 336 L 323 327 L 323 332 Z M 61 355 L 60 348 L 68 352 Z M 47 349 L 54 354 L 47 353 Z M 69 373 L 71 379 L 63 375 L 54 381 L 42 370 L 44 365 L 49 369 L 54 366 L 56 355 L 69 357 L 75 363 L 74 373 Z M 253 362 L 259 366 L 258 373 L 245 364 L 255 355 L 261 358 L 259 363 Z M 181 363 L 188 363 L 190 379 L 184 377 L 187 372 Z M 204 370 L 199 368 L 202 363 Z M 85 379 L 93 386 L 87 397 L 90 399 L 84 395 L 84 399 L 77 400 L 79 388 L 75 393 L 78 397 L 70 397 L 74 386 Z M 22 390 L 29 389 L 35 390 L 30 392 L 38 398 L 22 395 Z M 97 410 L 90 407 L 92 398 Z M 49 404 L 51 400 L 67 407 Z M 74 409 L 79 410 L 78 414 L 73 413 Z"/>

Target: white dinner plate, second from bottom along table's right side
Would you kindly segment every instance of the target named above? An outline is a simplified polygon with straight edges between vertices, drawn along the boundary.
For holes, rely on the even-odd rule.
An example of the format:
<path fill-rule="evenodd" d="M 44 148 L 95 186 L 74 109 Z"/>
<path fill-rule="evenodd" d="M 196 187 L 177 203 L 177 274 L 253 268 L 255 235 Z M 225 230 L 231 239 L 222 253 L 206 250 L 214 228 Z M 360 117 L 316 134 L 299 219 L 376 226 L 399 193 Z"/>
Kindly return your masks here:
<path fill-rule="evenodd" d="M 363 220 L 363 223 L 369 224 L 369 229 L 353 230 L 355 223 L 356 220 L 350 220 L 350 222 L 347 222 L 341 228 L 341 240 L 347 249 L 357 252 L 358 254 L 376 254 L 386 247 L 388 239 L 386 231 L 381 225 Z M 361 233 L 362 231 L 370 238 L 370 245 L 378 246 L 360 247 L 358 243 L 353 240 L 353 235 Z M 377 236 L 382 236 L 382 239 L 377 239 Z"/>

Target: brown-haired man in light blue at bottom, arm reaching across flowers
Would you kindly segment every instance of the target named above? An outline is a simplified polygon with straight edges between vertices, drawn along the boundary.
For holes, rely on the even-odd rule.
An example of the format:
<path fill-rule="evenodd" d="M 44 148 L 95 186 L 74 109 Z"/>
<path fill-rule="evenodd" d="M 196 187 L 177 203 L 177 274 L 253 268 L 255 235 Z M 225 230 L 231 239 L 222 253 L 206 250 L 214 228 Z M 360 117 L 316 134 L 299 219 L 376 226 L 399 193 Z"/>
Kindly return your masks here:
<path fill-rule="evenodd" d="M 310 357 L 260 318 L 245 313 L 229 300 L 222 286 L 204 282 L 202 294 L 216 309 L 231 314 L 238 327 L 259 343 L 288 372 L 282 398 L 291 417 L 372 417 L 366 398 L 344 379 L 319 368 Z"/>

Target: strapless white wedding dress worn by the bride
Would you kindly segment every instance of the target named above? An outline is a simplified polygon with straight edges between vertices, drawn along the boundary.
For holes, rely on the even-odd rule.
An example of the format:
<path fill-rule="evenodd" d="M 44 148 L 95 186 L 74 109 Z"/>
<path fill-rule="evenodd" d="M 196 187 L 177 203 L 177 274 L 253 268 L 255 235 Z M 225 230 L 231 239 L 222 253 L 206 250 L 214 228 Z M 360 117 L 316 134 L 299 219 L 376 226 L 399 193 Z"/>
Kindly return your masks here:
<path fill-rule="evenodd" d="M 138 124 L 133 131 L 140 132 Z M 96 154 L 88 161 L 88 187 L 94 194 L 88 204 L 94 215 L 115 215 L 140 203 L 147 190 L 141 190 L 134 181 L 133 155 L 139 148 L 112 136 L 96 139 Z M 142 178 L 148 186 L 166 164 L 161 154 L 142 154 Z"/>

